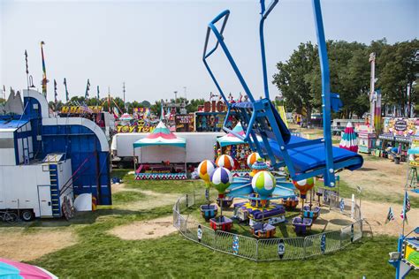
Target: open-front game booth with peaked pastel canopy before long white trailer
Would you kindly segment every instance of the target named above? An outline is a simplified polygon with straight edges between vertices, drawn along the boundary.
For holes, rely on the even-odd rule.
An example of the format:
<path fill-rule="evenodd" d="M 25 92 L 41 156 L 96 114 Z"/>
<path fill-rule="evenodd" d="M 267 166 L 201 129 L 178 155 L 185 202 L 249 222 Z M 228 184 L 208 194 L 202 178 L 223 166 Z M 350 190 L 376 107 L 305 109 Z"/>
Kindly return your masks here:
<path fill-rule="evenodd" d="M 163 122 L 157 124 L 146 138 L 133 143 L 133 151 L 140 148 L 135 179 L 187 179 L 187 141 L 177 137 Z"/>

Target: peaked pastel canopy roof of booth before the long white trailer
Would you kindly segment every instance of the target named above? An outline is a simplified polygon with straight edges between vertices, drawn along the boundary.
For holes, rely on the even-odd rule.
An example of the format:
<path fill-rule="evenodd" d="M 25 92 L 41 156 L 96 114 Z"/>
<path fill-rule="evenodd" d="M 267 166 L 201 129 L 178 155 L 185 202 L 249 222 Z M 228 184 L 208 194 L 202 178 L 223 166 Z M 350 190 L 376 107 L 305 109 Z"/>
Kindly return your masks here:
<path fill-rule="evenodd" d="M 157 124 L 156 129 L 153 130 L 146 138 L 137 140 L 133 143 L 133 147 L 147 147 L 147 146 L 171 146 L 171 147 L 187 147 L 187 140 L 177 137 L 172 133 L 162 121 Z"/>

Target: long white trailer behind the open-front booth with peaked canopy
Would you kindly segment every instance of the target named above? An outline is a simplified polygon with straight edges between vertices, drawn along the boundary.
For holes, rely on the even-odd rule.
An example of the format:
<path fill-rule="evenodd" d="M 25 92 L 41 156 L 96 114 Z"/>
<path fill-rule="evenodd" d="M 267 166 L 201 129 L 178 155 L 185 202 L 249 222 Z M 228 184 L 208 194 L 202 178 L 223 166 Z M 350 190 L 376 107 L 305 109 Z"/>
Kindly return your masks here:
<path fill-rule="evenodd" d="M 187 140 L 187 163 L 212 159 L 217 138 L 225 136 L 225 132 L 175 132 L 175 134 Z M 145 148 L 142 155 L 141 148 L 136 148 L 135 153 L 133 150 L 133 143 L 148 135 L 149 133 L 146 132 L 117 133 L 114 135 L 110 146 L 113 156 L 112 162 L 117 164 L 118 168 L 124 168 L 128 165 L 131 167 L 134 155 L 139 159 L 141 158 L 142 162 L 154 162 L 155 158 L 150 148 Z"/>

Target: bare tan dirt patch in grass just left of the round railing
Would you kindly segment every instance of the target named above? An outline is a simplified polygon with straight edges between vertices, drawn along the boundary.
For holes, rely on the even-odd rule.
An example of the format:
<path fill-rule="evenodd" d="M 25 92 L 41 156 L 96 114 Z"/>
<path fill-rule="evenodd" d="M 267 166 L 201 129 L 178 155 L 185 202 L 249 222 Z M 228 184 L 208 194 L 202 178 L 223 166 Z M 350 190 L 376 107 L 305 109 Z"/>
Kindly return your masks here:
<path fill-rule="evenodd" d="M 173 217 L 167 216 L 149 221 L 133 222 L 126 226 L 118 226 L 110 230 L 110 234 L 124 240 L 141 240 L 162 238 L 176 231 Z"/>

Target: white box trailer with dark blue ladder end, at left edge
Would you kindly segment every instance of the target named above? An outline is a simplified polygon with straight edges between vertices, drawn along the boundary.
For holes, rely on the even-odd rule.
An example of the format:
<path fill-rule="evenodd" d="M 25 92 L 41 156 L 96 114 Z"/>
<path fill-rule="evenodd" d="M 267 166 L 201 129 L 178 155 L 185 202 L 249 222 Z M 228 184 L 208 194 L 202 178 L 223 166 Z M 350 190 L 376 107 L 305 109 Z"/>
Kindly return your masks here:
<path fill-rule="evenodd" d="M 65 155 L 42 162 L 0 166 L 0 210 L 19 212 L 24 221 L 61 217 L 65 200 L 72 206 L 72 163 Z"/>

